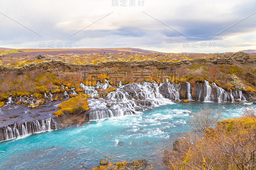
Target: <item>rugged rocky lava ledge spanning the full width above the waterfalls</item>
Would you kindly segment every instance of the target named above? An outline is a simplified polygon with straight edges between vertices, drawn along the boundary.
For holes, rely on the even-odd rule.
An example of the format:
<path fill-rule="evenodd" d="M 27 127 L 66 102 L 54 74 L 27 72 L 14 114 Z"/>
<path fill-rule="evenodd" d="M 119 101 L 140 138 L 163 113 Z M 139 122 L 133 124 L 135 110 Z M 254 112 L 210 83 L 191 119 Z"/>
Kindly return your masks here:
<path fill-rule="evenodd" d="M 43 69 L 44 72 L 54 72 L 54 70 L 61 70 L 64 72 L 73 72 L 79 70 L 81 68 L 86 67 L 93 67 L 95 69 L 100 68 L 112 68 L 112 67 L 140 67 L 140 68 L 148 68 L 149 67 L 156 67 L 157 69 L 165 69 L 167 67 L 178 68 L 181 66 L 186 66 L 189 64 L 196 64 L 196 63 L 212 63 L 212 64 L 239 64 L 242 67 L 244 65 L 251 66 L 254 68 L 256 67 L 256 58 L 250 57 L 246 53 L 236 53 L 233 55 L 217 55 L 216 57 L 209 57 L 209 58 L 198 58 L 198 59 L 183 59 L 180 61 L 159 61 L 156 59 L 146 59 L 140 61 L 118 61 L 116 59 L 110 58 L 109 60 L 94 63 L 87 63 L 87 64 L 76 64 L 71 63 L 68 61 L 63 60 L 55 60 L 49 59 L 48 61 L 42 61 L 37 63 L 30 63 L 26 64 L 22 67 L 6 67 L 0 65 L 0 74 L 5 74 L 9 72 L 14 72 L 17 74 L 23 74 L 26 71 L 31 71 L 35 69 Z M 245 66 L 245 68 L 246 68 Z M 243 67 L 244 68 L 244 67 Z"/>

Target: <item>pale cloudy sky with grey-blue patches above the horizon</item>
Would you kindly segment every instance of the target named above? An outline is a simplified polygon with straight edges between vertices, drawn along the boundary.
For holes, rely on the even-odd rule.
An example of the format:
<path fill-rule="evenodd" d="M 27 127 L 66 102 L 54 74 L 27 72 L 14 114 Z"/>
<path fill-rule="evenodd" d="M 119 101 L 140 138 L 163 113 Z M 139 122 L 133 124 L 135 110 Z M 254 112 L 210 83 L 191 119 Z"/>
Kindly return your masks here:
<path fill-rule="evenodd" d="M 256 49 L 255 0 L 0 0 L 0 20 L 5 48 Z"/>

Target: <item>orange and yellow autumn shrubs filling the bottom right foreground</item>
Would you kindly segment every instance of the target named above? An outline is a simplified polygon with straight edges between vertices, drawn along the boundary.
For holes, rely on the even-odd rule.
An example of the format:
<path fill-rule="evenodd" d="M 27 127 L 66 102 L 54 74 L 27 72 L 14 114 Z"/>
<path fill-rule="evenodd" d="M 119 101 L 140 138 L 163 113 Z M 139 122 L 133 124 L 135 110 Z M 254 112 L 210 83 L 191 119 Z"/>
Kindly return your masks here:
<path fill-rule="evenodd" d="M 245 111 L 241 118 L 218 122 L 215 128 L 205 131 L 203 138 L 189 134 L 189 148 L 160 148 L 159 163 L 168 170 L 254 170 L 256 112 L 247 110 L 249 113 Z"/>

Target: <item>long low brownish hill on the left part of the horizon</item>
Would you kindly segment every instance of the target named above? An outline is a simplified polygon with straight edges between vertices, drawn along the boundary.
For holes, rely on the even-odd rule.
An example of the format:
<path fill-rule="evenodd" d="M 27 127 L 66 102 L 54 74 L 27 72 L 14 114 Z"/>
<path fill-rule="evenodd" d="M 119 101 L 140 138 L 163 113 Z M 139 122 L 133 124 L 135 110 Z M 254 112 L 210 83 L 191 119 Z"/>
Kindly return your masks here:
<path fill-rule="evenodd" d="M 11 56 L 36 56 L 36 55 L 59 55 L 59 54 L 91 54 L 91 53 L 146 53 L 154 54 L 157 51 L 144 50 L 140 48 L 24 48 L 24 49 L 12 49 L 12 48 L 0 48 L 0 50 L 21 50 L 20 53 L 8 53 Z M 0 55 L 7 55 L 2 53 Z"/>

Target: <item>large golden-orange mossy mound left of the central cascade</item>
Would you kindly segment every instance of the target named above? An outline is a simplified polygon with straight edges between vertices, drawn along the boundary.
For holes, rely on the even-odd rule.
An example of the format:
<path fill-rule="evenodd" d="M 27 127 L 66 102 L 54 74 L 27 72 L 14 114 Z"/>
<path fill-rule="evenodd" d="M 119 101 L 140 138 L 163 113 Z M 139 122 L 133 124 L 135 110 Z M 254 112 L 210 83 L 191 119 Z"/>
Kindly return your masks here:
<path fill-rule="evenodd" d="M 90 95 L 80 93 L 79 96 L 75 98 L 71 98 L 68 101 L 64 101 L 63 103 L 59 104 L 60 110 L 54 112 L 53 115 L 62 116 L 63 114 L 79 114 L 84 111 L 88 111 L 88 101 L 87 97 Z"/>

